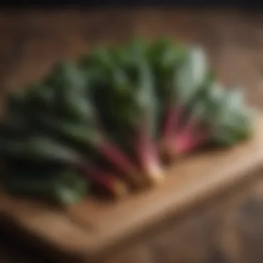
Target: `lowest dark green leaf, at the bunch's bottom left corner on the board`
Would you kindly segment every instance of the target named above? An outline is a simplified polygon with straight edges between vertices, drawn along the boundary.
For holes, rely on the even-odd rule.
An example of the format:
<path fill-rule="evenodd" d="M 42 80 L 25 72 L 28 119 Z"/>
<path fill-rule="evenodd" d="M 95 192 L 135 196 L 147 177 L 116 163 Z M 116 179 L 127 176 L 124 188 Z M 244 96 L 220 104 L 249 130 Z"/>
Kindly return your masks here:
<path fill-rule="evenodd" d="M 41 170 L 19 170 L 9 174 L 6 179 L 8 192 L 23 194 L 56 201 L 61 205 L 70 205 L 80 201 L 88 192 L 88 183 L 85 179 L 71 171 L 50 170 L 46 174 L 36 176 Z"/>

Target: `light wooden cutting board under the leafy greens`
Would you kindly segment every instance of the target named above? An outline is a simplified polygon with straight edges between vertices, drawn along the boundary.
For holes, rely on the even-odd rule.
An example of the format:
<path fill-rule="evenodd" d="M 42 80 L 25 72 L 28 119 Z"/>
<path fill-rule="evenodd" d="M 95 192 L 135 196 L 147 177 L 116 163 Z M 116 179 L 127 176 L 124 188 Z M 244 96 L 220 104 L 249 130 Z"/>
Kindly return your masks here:
<path fill-rule="evenodd" d="M 231 148 L 203 152 L 167 170 L 162 185 L 120 201 L 87 199 L 58 210 L 2 193 L 1 219 L 24 235 L 67 255 L 91 260 L 170 217 L 244 183 L 263 167 L 263 117 L 255 118 L 251 140 Z"/>

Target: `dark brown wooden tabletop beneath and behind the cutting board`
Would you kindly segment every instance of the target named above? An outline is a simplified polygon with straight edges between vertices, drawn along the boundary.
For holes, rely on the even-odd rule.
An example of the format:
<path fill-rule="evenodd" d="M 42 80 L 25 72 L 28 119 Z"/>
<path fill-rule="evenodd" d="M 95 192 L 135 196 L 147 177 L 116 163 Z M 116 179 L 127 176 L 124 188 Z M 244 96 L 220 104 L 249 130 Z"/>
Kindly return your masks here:
<path fill-rule="evenodd" d="M 248 103 L 262 108 L 262 33 L 262 13 L 246 10 L 2 10 L 1 91 L 37 80 L 53 61 L 74 58 L 96 44 L 170 35 L 202 44 L 221 80 L 246 87 Z M 111 262 L 262 262 L 261 185 L 259 179 L 240 193 L 230 192 Z M 0 262 L 48 262 L 6 234 L 0 233 L 0 244 Z"/>

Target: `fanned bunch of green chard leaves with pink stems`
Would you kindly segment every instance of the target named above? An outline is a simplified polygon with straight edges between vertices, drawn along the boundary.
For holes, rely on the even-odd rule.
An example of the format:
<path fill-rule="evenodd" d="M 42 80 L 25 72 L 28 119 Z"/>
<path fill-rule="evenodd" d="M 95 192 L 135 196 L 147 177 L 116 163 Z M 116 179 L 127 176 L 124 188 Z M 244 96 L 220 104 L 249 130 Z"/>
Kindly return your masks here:
<path fill-rule="evenodd" d="M 159 183 L 165 160 L 234 145 L 251 127 L 242 92 L 222 87 L 201 48 L 132 41 L 8 94 L 0 153 L 8 190 L 71 203 Z"/>

